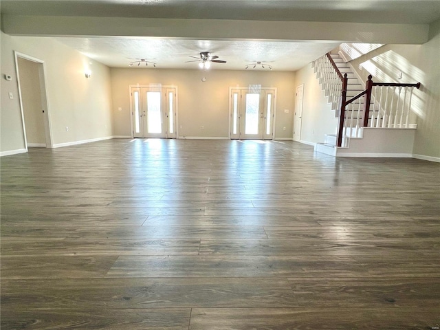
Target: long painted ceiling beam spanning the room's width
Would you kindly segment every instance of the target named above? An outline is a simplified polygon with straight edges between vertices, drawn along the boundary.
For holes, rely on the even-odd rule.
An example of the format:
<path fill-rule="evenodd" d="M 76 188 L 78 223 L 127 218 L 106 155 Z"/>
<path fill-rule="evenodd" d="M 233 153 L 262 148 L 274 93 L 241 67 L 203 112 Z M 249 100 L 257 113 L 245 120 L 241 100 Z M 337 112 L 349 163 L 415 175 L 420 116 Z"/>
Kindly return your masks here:
<path fill-rule="evenodd" d="M 4 14 L 1 30 L 22 36 L 149 36 L 206 40 L 341 41 L 422 44 L 427 24 L 140 19 Z"/>

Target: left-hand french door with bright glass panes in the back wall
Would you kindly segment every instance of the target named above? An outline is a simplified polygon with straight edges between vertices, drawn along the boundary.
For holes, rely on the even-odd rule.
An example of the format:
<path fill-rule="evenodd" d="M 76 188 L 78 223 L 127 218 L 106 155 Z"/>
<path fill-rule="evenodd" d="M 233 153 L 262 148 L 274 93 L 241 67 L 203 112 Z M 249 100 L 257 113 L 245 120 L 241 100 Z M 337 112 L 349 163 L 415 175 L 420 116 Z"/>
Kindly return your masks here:
<path fill-rule="evenodd" d="M 131 87 L 133 137 L 175 138 L 176 87 Z"/>

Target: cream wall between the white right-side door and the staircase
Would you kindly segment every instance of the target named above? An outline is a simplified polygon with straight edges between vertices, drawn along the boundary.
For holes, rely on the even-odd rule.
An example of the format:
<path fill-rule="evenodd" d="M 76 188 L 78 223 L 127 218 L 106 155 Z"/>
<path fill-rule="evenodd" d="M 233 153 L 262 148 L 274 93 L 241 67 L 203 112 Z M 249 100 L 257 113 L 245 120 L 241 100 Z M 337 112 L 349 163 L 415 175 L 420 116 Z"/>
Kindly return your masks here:
<path fill-rule="evenodd" d="M 296 72 L 295 88 L 301 84 L 304 84 L 304 98 L 300 141 L 324 142 L 325 134 L 336 133 L 338 118 L 335 118 L 335 111 L 331 110 L 311 65 Z"/>

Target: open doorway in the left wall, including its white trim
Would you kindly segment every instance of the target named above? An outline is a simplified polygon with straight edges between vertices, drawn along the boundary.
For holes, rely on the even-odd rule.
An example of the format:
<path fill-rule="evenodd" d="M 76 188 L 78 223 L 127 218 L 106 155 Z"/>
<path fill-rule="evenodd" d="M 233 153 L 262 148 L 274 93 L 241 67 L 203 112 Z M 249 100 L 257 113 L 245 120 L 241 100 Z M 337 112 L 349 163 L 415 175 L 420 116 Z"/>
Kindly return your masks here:
<path fill-rule="evenodd" d="M 44 61 L 14 52 L 25 149 L 53 148 Z"/>

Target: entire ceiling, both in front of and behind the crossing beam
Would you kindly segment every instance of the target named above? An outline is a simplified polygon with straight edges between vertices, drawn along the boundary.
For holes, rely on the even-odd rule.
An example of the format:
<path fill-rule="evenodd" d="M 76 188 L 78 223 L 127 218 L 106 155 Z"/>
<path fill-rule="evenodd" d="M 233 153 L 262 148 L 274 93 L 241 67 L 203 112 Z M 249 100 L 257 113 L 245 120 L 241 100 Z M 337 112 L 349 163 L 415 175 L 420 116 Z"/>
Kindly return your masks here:
<path fill-rule="evenodd" d="M 1 14 L 26 17 L 428 24 L 440 18 L 440 0 L 2 0 L 0 10 Z M 191 69 L 197 68 L 197 63 L 186 63 L 194 59 L 189 56 L 212 52 L 228 62 L 214 63 L 212 69 L 245 69 L 246 64 L 261 61 L 282 71 L 296 71 L 344 42 L 319 38 L 314 41 L 230 39 L 227 35 L 225 30 L 225 38 L 214 40 L 191 35 L 159 38 L 54 33 L 52 37 L 109 67 L 128 67 L 134 58 L 146 58 L 157 63 L 158 68 Z"/>

